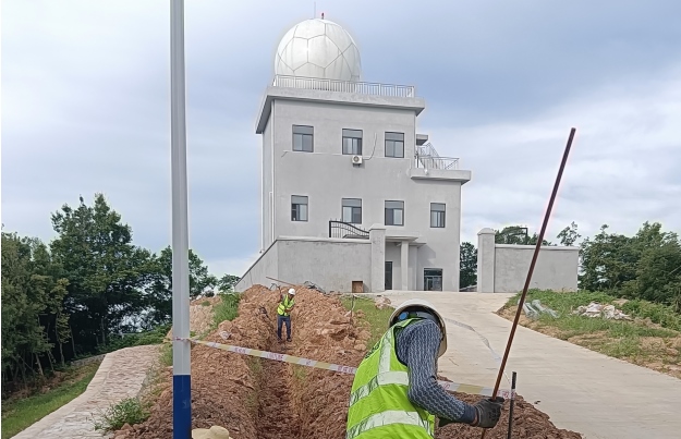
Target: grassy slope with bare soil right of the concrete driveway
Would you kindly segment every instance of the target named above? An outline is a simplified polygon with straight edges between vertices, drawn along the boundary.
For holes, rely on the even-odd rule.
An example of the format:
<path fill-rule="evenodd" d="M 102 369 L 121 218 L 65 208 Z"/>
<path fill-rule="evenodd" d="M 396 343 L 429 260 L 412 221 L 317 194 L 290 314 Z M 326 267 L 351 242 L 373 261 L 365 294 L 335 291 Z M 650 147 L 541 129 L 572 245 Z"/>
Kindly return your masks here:
<path fill-rule="evenodd" d="M 519 298 L 520 294 L 511 297 L 500 314 L 512 319 Z M 540 315 L 537 320 L 530 320 L 523 314 L 521 322 L 524 326 L 592 351 L 681 378 L 681 316 L 671 307 L 641 300 L 622 304 L 612 294 L 588 291 L 559 293 L 531 290 L 526 302 L 533 300 L 539 300 L 542 305 L 555 309 L 559 317 Z M 612 304 L 634 320 L 572 314 L 579 306 L 591 302 Z M 511 307 L 513 313 L 508 309 Z"/>

